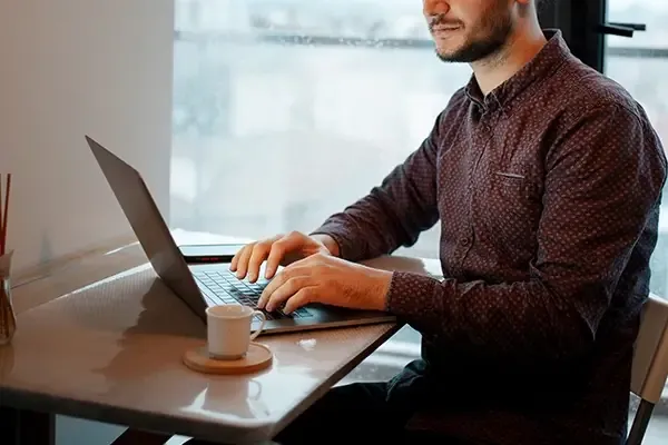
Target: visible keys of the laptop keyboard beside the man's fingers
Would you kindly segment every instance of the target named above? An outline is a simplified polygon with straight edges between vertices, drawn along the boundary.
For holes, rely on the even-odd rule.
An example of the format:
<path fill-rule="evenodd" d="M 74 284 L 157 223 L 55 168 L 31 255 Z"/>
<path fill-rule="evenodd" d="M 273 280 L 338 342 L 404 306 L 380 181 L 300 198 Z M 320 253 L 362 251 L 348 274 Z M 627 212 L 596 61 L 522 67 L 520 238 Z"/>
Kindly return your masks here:
<path fill-rule="evenodd" d="M 194 270 L 193 276 L 204 297 L 213 306 L 242 304 L 256 308 L 263 289 L 269 283 L 262 279 L 256 283 L 244 281 L 229 270 Z M 267 319 L 305 318 L 312 316 L 304 308 L 299 308 L 292 314 L 285 314 L 283 310 L 263 312 Z"/>

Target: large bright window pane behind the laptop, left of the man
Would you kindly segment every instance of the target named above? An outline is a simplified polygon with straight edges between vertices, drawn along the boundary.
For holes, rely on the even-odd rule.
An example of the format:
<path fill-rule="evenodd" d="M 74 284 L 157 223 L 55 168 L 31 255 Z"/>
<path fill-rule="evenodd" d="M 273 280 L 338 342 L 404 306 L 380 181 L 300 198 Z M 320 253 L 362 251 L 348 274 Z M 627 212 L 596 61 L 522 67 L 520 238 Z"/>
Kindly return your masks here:
<path fill-rule="evenodd" d="M 316 228 L 418 148 L 471 76 L 435 57 L 413 0 L 177 0 L 176 14 L 170 208 L 188 230 Z M 435 257 L 438 230 L 413 253 Z"/>

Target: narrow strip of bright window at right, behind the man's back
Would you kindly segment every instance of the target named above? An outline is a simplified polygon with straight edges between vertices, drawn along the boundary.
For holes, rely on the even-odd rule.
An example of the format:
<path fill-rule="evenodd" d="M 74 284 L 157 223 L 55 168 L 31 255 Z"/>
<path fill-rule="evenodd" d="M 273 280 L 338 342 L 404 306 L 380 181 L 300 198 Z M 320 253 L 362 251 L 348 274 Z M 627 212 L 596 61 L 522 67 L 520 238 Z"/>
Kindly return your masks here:
<path fill-rule="evenodd" d="M 608 36 L 605 72 L 638 100 L 668 149 L 668 2 L 608 0 L 608 21 L 642 23 L 632 39 Z M 665 194 L 668 190 L 665 191 Z M 651 290 L 668 297 L 668 198 L 664 198 L 659 240 L 651 259 Z"/>

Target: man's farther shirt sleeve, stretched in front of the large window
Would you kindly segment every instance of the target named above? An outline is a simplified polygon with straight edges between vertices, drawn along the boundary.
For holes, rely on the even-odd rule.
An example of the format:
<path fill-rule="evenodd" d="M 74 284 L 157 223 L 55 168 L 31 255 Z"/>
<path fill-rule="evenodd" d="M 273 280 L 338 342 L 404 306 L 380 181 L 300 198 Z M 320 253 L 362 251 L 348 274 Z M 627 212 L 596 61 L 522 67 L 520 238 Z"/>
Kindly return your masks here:
<path fill-rule="evenodd" d="M 387 255 L 412 246 L 439 220 L 436 156 L 441 115 L 418 150 L 395 167 L 382 184 L 311 235 L 330 235 L 341 257 L 351 261 Z"/>

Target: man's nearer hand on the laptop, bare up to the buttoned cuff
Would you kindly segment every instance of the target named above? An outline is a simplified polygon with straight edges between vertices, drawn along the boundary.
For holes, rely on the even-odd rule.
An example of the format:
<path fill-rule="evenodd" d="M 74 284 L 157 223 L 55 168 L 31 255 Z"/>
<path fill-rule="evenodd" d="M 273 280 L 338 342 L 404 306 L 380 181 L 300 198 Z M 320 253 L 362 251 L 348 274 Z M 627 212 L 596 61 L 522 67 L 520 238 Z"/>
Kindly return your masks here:
<path fill-rule="evenodd" d="M 312 255 L 285 267 L 264 289 L 257 306 L 291 312 L 310 303 L 354 309 L 384 310 L 392 273 Z"/>

